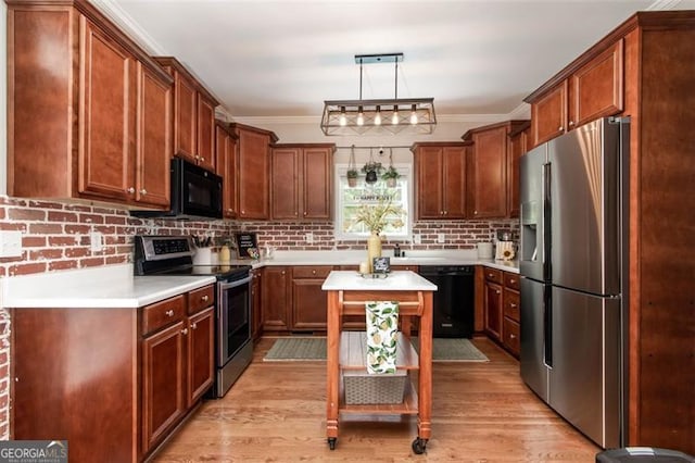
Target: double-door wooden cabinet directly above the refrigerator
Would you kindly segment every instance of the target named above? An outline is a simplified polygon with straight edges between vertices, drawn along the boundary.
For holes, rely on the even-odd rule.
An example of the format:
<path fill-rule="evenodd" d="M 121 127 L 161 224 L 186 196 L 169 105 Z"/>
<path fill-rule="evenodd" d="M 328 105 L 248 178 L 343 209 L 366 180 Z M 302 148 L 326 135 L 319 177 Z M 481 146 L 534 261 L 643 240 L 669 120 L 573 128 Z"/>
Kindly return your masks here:
<path fill-rule="evenodd" d="M 624 43 L 616 40 L 561 79 L 553 79 L 525 101 L 531 103 L 532 136 L 540 145 L 603 116 L 623 110 Z"/>

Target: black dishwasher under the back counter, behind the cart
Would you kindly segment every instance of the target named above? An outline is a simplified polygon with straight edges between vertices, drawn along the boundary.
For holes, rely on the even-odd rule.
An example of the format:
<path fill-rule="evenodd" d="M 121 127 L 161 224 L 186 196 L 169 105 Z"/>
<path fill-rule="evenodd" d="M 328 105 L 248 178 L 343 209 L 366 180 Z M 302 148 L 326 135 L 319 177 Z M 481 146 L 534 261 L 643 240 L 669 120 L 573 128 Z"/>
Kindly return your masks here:
<path fill-rule="evenodd" d="M 475 265 L 420 265 L 420 275 L 437 285 L 432 335 L 471 338 L 476 312 Z"/>

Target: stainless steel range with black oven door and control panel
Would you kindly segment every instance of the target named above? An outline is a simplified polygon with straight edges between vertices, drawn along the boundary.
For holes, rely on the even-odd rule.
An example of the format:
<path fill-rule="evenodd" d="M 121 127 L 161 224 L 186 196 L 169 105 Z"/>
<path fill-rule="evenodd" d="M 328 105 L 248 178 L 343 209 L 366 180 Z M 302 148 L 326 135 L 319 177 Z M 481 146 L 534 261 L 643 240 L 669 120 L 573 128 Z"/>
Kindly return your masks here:
<path fill-rule="evenodd" d="M 193 265 L 187 236 L 135 237 L 136 275 L 211 275 L 215 291 L 215 397 L 224 397 L 251 363 L 251 265 Z"/>

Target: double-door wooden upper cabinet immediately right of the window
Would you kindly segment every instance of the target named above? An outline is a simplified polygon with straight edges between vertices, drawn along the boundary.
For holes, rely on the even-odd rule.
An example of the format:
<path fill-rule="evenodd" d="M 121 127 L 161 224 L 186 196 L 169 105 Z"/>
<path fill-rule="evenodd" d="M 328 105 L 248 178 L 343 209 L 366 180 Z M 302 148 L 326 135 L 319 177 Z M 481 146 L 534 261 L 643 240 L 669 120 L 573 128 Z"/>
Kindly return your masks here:
<path fill-rule="evenodd" d="M 413 145 L 415 215 L 418 220 L 466 217 L 466 157 L 470 142 Z"/>

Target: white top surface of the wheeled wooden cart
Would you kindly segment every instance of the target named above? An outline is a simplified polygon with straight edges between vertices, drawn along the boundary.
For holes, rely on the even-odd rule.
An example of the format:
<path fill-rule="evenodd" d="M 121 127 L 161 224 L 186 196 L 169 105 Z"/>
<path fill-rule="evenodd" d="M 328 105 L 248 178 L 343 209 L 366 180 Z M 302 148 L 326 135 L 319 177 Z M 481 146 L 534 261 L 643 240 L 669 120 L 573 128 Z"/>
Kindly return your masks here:
<path fill-rule="evenodd" d="M 365 278 L 355 271 L 332 271 L 321 289 L 325 291 L 437 291 L 437 285 L 410 271 L 391 272 L 387 278 Z"/>

